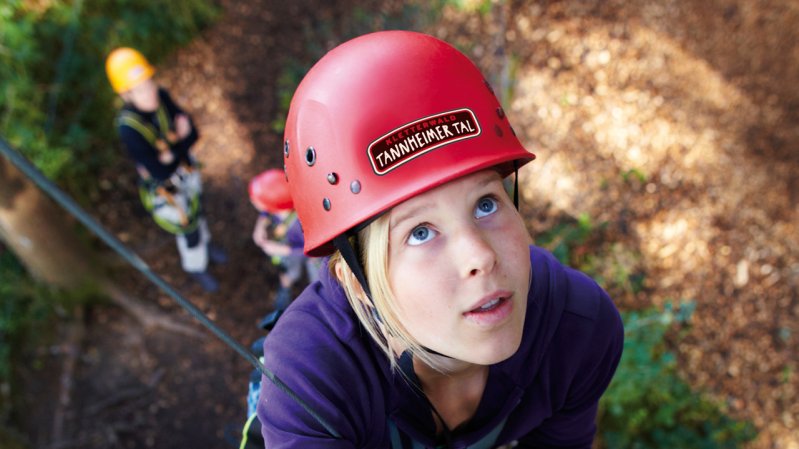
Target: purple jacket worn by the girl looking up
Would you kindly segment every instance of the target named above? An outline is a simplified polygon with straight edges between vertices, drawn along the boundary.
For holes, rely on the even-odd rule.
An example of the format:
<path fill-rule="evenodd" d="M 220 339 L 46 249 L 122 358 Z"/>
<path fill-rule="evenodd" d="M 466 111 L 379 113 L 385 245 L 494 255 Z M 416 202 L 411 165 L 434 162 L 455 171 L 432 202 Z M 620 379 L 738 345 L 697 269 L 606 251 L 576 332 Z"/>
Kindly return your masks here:
<path fill-rule="evenodd" d="M 534 246 L 530 260 L 522 344 L 490 367 L 480 405 L 451 447 L 591 447 L 599 397 L 621 358 L 621 317 L 586 275 Z M 333 440 L 263 379 L 258 417 L 268 449 L 436 447 L 427 402 L 391 372 L 329 273 L 286 310 L 264 354 L 264 365 L 343 437 Z"/>

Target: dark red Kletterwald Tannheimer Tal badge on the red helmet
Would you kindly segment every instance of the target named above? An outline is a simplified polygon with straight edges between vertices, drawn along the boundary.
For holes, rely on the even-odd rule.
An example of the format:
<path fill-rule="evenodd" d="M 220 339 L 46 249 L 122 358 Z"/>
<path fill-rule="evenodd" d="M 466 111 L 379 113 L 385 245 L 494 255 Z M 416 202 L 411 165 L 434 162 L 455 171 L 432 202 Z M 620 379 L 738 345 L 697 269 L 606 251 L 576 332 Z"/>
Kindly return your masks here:
<path fill-rule="evenodd" d="M 369 144 L 366 153 L 377 175 L 385 175 L 425 153 L 480 135 L 480 124 L 469 109 L 431 115 L 400 126 Z"/>

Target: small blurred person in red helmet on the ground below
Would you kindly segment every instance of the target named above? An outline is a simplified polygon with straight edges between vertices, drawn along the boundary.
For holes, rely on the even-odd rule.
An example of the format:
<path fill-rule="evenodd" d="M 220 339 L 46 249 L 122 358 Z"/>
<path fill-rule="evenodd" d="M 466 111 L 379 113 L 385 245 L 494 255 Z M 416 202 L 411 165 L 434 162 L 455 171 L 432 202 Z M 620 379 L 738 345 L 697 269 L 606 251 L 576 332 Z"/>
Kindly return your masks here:
<path fill-rule="evenodd" d="M 253 177 L 249 190 L 250 202 L 258 210 L 252 239 L 280 272 L 275 308 L 259 323 L 261 328 L 271 329 L 291 301 L 291 289 L 302 279 L 303 271 L 313 282 L 319 267 L 303 254 L 302 226 L 283 170 L 273 168 Z"/>

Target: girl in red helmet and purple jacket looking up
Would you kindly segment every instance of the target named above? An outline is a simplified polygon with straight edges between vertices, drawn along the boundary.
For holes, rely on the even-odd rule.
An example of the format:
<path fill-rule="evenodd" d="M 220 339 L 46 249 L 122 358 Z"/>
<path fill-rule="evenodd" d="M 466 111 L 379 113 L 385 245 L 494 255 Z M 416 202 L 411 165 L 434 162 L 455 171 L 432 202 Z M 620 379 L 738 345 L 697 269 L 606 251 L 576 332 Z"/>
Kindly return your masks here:
<path fill-rule="evenodd" d="M 425 34 L 357 37 L 307 73 L 284 137 L 329 270 L 265 339 L 265 447 L 590 448 L 621 318 L 532 244 L 503 179 L 535 156 L 477 67 Z"/>

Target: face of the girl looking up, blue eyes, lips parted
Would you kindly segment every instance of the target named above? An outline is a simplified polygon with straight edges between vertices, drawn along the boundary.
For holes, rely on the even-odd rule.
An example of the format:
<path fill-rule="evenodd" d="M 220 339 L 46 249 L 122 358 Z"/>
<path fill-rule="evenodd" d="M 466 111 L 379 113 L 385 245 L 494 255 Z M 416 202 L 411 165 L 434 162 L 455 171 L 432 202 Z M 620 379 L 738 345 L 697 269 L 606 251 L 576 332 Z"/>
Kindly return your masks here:
<path fill-rule="evenodd" d="M 527 310 L 532 239 L 499 174 L 451 181 L 394 207 L 389 220 L 389 283 L 408 332 L 469 363 L 513 355 Z"/>

